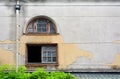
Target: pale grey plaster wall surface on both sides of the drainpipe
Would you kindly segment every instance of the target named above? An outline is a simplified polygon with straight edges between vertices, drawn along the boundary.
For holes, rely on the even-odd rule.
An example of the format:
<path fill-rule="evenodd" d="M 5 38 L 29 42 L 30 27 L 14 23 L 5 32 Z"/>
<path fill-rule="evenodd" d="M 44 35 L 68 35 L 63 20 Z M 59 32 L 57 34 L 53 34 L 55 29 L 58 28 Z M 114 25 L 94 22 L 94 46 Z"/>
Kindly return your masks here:
<path fill-rule="evenodd" d="M 72 1 L 72 0 L 71 0 Z M 105 0 L 107 1 L 107 0 Z M 111 0 L 112 1 L 112 0 Z M 116 0 L 117 1 L 117 0 Z M 84 5 L 83 5 L 84 4 Z M 20 36 L 28 21 L 35 16 L 48 16 L 56 24 L 64 43 L 78 44 L 80 50 L 90 51 L 91 60 L 79 57 L 68 66 L 78 68 L 109 68 L 115 54 L 120 54 L 120 3 L 22 3 L 20 12 Z M 15 2 L 0 2 L 0 40 L 13 40 L 16 36 Z M 15 52 L 15 44 L 0 45 Z M 108 59 L 109 56 L 109 59 Z M 22 60 L 22 61 L 21 61 Z M 20 64 L 24 59 L 19 56 Z"/>

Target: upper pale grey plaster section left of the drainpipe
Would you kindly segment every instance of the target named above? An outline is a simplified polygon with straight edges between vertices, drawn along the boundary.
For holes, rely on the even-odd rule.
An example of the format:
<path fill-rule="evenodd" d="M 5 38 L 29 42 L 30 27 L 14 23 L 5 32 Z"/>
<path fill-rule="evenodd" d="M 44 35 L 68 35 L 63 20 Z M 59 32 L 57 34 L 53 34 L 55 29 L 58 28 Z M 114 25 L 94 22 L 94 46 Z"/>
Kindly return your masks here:
<path fill-rule="evenodd" d="M 15 40 L 15 13 L 13 6 L 0 5 L 0 40 Z"/>

